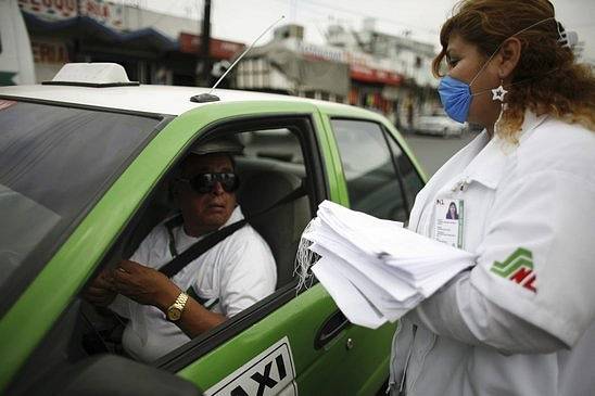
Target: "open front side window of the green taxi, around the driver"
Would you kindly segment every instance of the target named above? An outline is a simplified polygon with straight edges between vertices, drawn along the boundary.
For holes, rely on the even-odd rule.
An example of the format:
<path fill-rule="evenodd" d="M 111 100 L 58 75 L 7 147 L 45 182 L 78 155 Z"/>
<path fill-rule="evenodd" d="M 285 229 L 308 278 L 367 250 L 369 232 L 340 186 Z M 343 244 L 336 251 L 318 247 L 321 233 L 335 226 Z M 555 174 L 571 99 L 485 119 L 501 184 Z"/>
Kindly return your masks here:
<path fill-rule="evenodd" d="M 183 367 L 185 363 L 195 358 L 194 354 L 202 354 L 216 347 L 225 340 L 237 335 L 249 323 L 254 323 L 265 317 L 268 312 L 287 302 L 287 298 L 295 296 L 294 288 L 294 257 L 302 231 L 313 216 L 314 200 L 314 176 L 312 169 L 313 152 L 307 155 L 308 142 L 305 136 L 306 130 L 295 126 L 295 120 L 289 122 L 287 127 L 258 126 L 254 123 L 252 127 L 238 125 L 236 127 L 224 128 L 223 133 L 236 135 L 244 145 L 242 154 L 233 157 L 236 173 L 240 179 L 240 188 L 236 192 L 239 205 L 243 215 L 249 219 L 250 226 L 256 230 L 266 241 L 273 253 L 276 266 L 277 283 L 273 294 L 264 299 L 256 302 L 252 306 L 244 308 L 243 311 L 227 318 L 227 321 L 217 328 L 207 331 L 191 342 L 172 350 L 162 356 L 155 365 L 168 365 L 172 361 L 178 361 L 177 365 Z M 300 120 L 299 125 L 309 125 L 306 120 Z M 206 132 L 204 139 L 215 136 L 219 130 L 213 133 Z M 313 139 L 311 136 L 309 140 Z M 201 139 L 200 141 L 203 141 Z M 312 142 L 309 142 L 312 143 Z M 185 155 L 180 156 L 180 159 Z M 138 215 L 138 222 L 134 229 L 123 237 L 119 244 L 124 250 L 115 248 L 115 256 L 127 258 L 134 254 L 136 247 L 141 243 L 144 237 L 156 226 L 176 212 L 176 205 L 168 194 L 172 180 L 178 175 L 178 167 L 174 166 L 170 171 L 157 183 L 155 191 L 145 204 L 145 209 Z M 320 176 L 317 177 L 320 179 Z M 295 197 L 289 202 L 278 205 L 278 202 L 288 195 L 295 194 Z M 134 241 L 134 242 L 130 242 Z M 119 253 L 124 254 L 119 256 Z M 118 257 L 107 257 L 105 265 L 113 266 Z M 289 291 L 289 292 L 288 292 Z M 279 298 L 279 294 L 283 294 Z M 107 347 L 111 352 L 122 350 L 117 345 L 119 340 L 111 338 L 111 334 L 100 342 L 97 341 L 98 333 L 103 335 L 97 329 L 113 328 L 113 318 L 97 316 L 97 312 L 90 311 L 87 304 L 84 304 L 84 310 L 89 320 L 87 320 L 87 338 L 96 338 L 88 343 L 90 345 L 88 353 L 102 352 Z M 216 305 L 214 306 L 216 308 Z M 92 310 L 92 309 L 91 309 Z M 106 314 L 103 310 L 103 314 Z M 110 324 L 102 321 L 107 319 Z M 90 324 L 90 325 L 89 325 Z M 223 335 L 221 335 L 223 334 Z M 212 335 L 212 336 L 210 336 Z M 216 338 L 216 342 L 213 341 Z M 197 346 L 200 345 L 200 348 Z M 181 359 L 181 360 L 180 360 Z M 179 363 L 179 361 L 183 361 Z M 177 366 L 176 366 L 177 367 Z"/>

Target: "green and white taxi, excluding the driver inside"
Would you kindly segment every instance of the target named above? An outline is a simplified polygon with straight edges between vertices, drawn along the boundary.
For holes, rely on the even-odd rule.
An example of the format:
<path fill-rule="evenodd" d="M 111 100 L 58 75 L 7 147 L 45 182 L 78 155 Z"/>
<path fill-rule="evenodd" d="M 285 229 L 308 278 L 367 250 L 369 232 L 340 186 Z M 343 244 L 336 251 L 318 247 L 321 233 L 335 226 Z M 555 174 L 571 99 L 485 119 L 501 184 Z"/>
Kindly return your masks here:
<path fill-rule="evenodd" d="M 170 381 L 179 394 L 188 382 L 207 395 L 378 392 L 395 324 L 350 324 L 320 284 L 298 290 L 293 257 L 322 200 L 406 220 L 426 177 L 394 127 L 329 102 L 217 90 L 200 103 L 206 89 L 98 81 L 0 88 L 0 393 L 159 394 Z M 226 133 L 245 144 L 249 216 L 284 194 L 278 178 L 306 191 L 253 223 L 276 255 L 277 291 L 151 365 L 103 354 L 105 317 L 81 291 L 170 209 L 189 148 Z"/>

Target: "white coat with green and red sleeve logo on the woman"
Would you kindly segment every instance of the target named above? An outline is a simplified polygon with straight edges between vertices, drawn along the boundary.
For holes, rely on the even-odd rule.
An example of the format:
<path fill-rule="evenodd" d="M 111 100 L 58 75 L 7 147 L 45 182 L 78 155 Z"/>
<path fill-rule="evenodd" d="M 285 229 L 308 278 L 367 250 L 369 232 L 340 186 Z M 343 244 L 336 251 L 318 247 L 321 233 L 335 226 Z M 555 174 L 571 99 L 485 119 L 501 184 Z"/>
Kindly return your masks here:
<path fill-rule="evenodd" d="M 464 200 L 477 265 L 402 320 L 392 393 L 593 394 L 595 132 L 527 112 L 518 145 L 484 131 L 432 177 L 412 230 L 433 238 L 441 197 Z M 529 267 L 496 273 L 518 248 Z"/>

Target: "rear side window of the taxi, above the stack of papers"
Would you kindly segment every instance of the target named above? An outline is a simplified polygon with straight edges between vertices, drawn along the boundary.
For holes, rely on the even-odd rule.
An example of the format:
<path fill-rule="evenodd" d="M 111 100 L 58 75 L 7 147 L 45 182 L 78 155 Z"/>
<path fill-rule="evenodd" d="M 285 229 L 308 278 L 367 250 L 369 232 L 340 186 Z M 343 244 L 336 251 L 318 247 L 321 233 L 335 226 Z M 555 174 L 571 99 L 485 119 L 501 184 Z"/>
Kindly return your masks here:
<path fill-rule="evenodd" d="M 354 119 L 332 119 L 331 124 L 351 207 L 379 218 L 405 221 L 412 203 L 409 195 L 415 196 L 418 187 L 409 180 L 409 193 L 401 175 L 419 177 L 401 148 L 379 124 Z"/>

